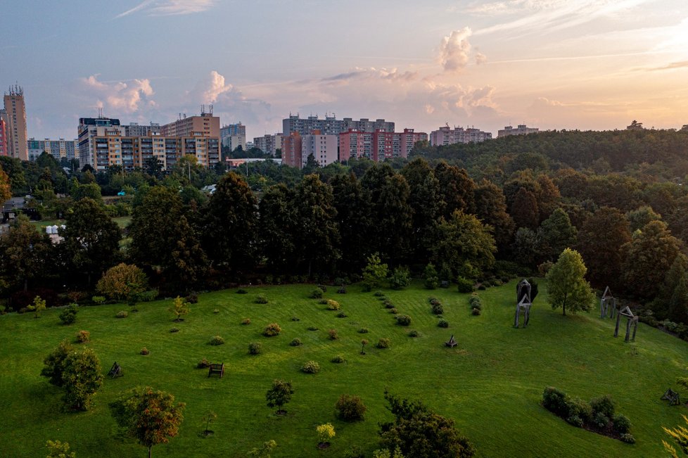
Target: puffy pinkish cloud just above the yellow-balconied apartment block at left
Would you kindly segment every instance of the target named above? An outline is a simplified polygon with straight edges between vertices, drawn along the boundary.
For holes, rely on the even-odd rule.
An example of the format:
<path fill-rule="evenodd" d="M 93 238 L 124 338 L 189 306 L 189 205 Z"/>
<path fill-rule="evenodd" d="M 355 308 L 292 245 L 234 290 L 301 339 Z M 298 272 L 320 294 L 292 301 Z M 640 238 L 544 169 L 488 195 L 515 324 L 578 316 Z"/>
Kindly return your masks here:
<path fill-rule="evenodd" d="M 98 108 L 109 108 L 124 113 L 134 113 L 141 103 L 155 106 L 151 96 L 155 94 L 149 79 L 132 79 L 129 82 L 101 82 L 98 75 L 80 79 L 87 95 L 96 98 Z"/>

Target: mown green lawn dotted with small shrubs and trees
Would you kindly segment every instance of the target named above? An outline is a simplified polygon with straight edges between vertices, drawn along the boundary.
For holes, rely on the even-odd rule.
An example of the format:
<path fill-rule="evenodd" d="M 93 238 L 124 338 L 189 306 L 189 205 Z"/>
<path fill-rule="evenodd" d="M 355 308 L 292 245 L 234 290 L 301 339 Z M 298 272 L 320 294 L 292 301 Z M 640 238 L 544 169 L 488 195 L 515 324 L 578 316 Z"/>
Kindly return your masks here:
<path fill-rule="evenodd" d="M 144 447 L 117 435 L 107 404 L 134 386 L 153 386 L 186 402 L 179 436 L 153 448 L 158 457 L 243 457 L 265 440 L 278 443 L 273 457 L 341 457 L 352 445 L 367 456 L 377 445 L 378 423 L 390 419 L 383 391 L 423 400 L 440 414 L 456 421 L 480 457 L 661 457 L 662 426 L 682 423 L 684 407 L 668 407 L 659 398 L 677 376 L 686 375 L 688 343 L 639 325 L 637 341 L 613 338 L 613 322 L 597 314 L 562 317 L 545 303 L 546 289 L 531 309 L 528 329 L 511 327 L 515 283 L 481 291 L 483 314 L 469 312 L 468 295 L 452 290 L 426 291 L 419 285 L 405 291 L 384 290 L 409 328 L 396 326 L 393 315 L 371 293 L 350 286 L 339 295 L 329 288 L 327 298 L 338 300 L 348 317 L 326 310 L 307 298 L 313 286 L 248 288 L 248 294 L 219 291 L 200 295 L 186 321 L 175 324 L 167 308 L 172 300 L 141 304 L 138 313 L 116 319 L 126 305 L 84 307 L 77 322 L 63 326 L 58 310 L 46 310 L 40 319 L 32 314 L 0 317 L 0 444 L 4 456 L 44 457 L 48 439 L 67 441 L 77 457 L 143 457 Z M 253 303 L 265 293 L 267 305 Z M 449 329 L 436 326 L 428 297 L 442 300 Z M 218 314 L 213 310 L 219 309 Z M 292 321 L 299 317 L 300 321 Z M 241 325 L 250 318 L 251 324 Z M 261 336 L 271 322 L 282 327 L 273 338 Z M 172 327 L 178 333 L 170 333 Z M 308 331 L 317 326 L 318 331 Z M 370 333 L 357 329 L 365 326 Z M 103 371 L 113 361 L 125 376 L 106 379 L 89 412 L 61 410 L 60 390 L 39 376 L 42 360 L 63 338 L 80 329 L 91 332 L 91 345 L 101 358 Z M 340 339 L 330 341 L 336 329 Z M 409 338 L 409 329 L 419 331 Z M 454 334 L 457 348 L 445 348 Z M 207 344 L 219 334 L 226 343 Z M 622 332 L 623 334 L 623 332 Z M 300 338 L 302 347 L 289 342 Z M 372 345 L 390 338 L 388 350 Z M 371 342 L 367 355 L 359 355 L 361 338 Z M 262 343 L 262 354 L 248 355 L 248 343 Z M 142 347 L 151 351 L 139 355 Z M 342 354 L 345 364 L 333 364 Z M 208 379 L 195 369 L 203 357 L 224 362 L 224 379 Z M 317 375 L 302 374 L 300 365 L 316 360 Z M 293 382 L 295 394 L 286 405 L 288 414 L 276 416 L 265 405 L 265 392 L 273 379 Z M 635 445 L 627 445 L 569 426 L 539 404 L 545 386 L 589 400 L 610 394 L 618 411 L 632 421 Z M 360 395 L 369 410 L 366 421 L 346 424 L 334 415 L 341 393 Z M 215 435 L 201 438 L 203 412 L 217 412 L 211 425 Z M 330 421 L 336 438 L 329 450 L 318 450 L 315 427 Z"/>

